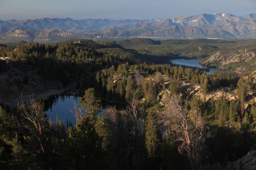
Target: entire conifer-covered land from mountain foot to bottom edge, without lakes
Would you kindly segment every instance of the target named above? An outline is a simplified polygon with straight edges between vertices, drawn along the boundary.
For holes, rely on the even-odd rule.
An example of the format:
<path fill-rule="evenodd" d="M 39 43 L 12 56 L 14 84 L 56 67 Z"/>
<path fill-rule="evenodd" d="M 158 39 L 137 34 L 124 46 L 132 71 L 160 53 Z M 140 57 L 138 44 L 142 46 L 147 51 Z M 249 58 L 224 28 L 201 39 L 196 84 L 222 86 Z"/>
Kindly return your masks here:
<path fill-rule="evenodd" d="M 244 164 L 233 162 L 256 150 L 256 72 L 209 75 L 166 61 L 254 43 L 131 39 L 0 45 L 0 167 L 242 169 Z M 45 114 L 44 99 L 57 93 L 79 96 L 75 125 L 58 117 L 53 123 Z M 103 101 L 109 104 L 99 114 Z"/>

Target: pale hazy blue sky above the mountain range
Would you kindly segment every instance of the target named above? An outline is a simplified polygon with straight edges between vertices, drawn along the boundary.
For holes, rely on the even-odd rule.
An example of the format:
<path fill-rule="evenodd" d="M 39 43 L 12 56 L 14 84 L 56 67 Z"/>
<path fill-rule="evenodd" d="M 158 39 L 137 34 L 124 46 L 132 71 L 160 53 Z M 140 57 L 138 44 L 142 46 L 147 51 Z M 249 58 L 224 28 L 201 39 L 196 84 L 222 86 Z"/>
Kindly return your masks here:
<path fill-rule="evenodd" d="M 201 13 L 256 13 L 256 0 L 0 0 L 0 20 L 153 19 Z"/>

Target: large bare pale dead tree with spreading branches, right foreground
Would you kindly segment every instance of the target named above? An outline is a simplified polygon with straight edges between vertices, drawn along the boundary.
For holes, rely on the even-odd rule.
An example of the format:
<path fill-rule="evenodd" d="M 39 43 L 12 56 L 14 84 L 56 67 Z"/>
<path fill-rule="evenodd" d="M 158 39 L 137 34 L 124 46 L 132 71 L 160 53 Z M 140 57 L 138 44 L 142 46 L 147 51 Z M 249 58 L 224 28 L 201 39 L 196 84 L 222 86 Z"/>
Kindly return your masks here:
<path fill-rule="evenodd" d="M 160 114 L 160 125 L 164 129 L 164 137 L 169 138 L 171 133 L 181 142 L 178 152 L 186 155 L 192 167 L 201 161 L 201 140 L 203 137 L 204 120 L 198 111 L 188 113 L 186 102 L 180 95 L 170 95 L 164 100 L 165 111 Z"/>

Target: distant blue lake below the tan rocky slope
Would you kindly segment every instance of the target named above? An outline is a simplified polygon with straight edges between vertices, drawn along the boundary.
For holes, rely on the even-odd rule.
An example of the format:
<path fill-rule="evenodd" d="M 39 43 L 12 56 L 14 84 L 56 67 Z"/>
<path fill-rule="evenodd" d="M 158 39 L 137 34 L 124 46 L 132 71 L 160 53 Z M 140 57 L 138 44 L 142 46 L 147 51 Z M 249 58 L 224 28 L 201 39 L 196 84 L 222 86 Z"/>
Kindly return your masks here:
<path fill-rule="evenodd" d="M 209 71 L 206 71 L 207 74 L 213 74 L 218 71 L 217 68 L 207 68 L 201 65 L 200 59 L 190 59 L 190 58 L 178 58 L 178 59 L 171 59 L 170 62 L 174 65 L 183 65 L 191 68 L 206 68 Z"/>

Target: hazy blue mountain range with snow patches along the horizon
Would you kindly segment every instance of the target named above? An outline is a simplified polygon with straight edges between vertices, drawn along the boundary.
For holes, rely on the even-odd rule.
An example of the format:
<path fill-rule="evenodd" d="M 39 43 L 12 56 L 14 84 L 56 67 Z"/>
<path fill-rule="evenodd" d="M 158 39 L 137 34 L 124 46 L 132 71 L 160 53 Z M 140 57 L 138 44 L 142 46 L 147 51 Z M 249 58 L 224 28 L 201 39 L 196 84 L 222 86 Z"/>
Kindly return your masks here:
<path fill-rule="evenodd" d="M 256 38 L 256 14 L 198 14 L 154 20 L 41 18 L 0 20 L 0 42 L 101 38 Z"/>

